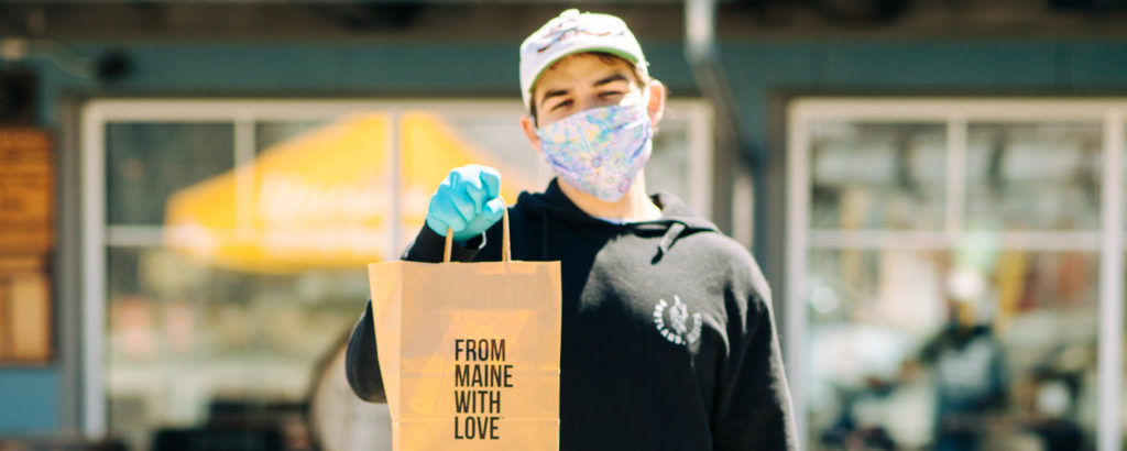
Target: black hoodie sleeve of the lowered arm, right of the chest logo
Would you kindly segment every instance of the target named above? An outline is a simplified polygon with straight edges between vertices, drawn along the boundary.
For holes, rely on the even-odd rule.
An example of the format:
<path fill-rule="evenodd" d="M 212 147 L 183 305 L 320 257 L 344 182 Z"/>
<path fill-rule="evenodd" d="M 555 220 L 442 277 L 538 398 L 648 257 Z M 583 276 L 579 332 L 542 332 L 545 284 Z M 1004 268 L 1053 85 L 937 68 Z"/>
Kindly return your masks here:
<path fill-rule="evenodd" d="M 790 389 L 771 311 L 770 289 L 754 260 L 743 293 L 744 308 L 729 318 L 727 365 L 718 384 L 715 449 L 797 450 Z M 746 269 L 745 269 L 746 271 Z M 743 277 L 739 277 L 743 278 Z"/>

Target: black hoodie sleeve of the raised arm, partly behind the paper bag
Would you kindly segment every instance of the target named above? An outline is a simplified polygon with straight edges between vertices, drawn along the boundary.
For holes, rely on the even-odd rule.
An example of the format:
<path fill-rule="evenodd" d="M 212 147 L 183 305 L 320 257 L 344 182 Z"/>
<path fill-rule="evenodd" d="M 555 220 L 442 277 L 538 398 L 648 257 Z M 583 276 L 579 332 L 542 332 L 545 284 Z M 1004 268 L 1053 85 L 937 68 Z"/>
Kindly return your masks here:
<path fill-rule="evenodd" d="M 455 262 L 472 260 L 483 244 L 482 241 L 482 238 L 473 238 L 464 247 L 454 245 L 451 250 L 451 259 Z M 445 247 L 446 238 L 424 226 L 415 238 L 415 242 L 403 253 L 402 258 L 411 262 L 442 262 Z M 371 300 L 348 338 L 345 373 L 348 375 L 348 386 L 361 399 L 369 403 L 387 403 L 388 398 L 383 391 L 383 375 L 380 373 L 380 360 L 375 347 Z"/>

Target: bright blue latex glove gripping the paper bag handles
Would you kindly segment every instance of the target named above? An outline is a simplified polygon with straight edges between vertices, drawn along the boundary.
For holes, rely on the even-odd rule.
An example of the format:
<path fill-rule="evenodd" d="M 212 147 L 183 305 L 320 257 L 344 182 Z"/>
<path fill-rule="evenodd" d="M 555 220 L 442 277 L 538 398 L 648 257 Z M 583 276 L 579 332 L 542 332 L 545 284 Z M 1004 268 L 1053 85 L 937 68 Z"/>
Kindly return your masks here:
<path fill-rule="evenodd" d="M 500 174 L 488 166 L 470 165 L 450 171 L 431 196 L 426 224 L 443 237 L 454 231 L 454 242 L 464 245 L 500 219 Z"/>

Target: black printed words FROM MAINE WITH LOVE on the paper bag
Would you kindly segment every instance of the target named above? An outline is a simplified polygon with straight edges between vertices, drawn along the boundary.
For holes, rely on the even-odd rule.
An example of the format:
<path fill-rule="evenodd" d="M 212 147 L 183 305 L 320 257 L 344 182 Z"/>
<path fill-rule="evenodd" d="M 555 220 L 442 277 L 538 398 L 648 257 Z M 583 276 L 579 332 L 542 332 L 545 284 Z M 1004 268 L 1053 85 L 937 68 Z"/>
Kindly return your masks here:
<path fill-rule="evenodd" d="M 454 362 L 454 440 L 499 440 L 500 389 L 513 388 L 505 338 L 458 338 Z"/>

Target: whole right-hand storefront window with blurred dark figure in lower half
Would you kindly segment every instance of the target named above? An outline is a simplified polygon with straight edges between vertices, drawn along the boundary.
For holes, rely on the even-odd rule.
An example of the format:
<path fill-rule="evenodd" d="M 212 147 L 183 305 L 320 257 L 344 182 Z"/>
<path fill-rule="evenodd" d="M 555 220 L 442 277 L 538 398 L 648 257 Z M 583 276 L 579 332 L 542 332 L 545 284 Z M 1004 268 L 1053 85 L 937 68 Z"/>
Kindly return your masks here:
<path fill-rule="evenodd" d="M 809 449 L 1092 449 L 1109 427 L 1098 351 L 1122 342 L 1099 334 L 1106 109 L 1012 120 L 982 104 L 792 112 L 808 218 L 788 285 L 805 333 L 789 337 Z"/>

